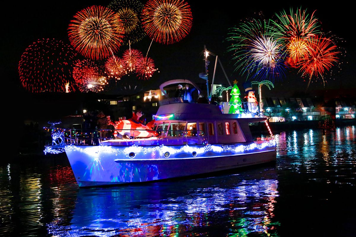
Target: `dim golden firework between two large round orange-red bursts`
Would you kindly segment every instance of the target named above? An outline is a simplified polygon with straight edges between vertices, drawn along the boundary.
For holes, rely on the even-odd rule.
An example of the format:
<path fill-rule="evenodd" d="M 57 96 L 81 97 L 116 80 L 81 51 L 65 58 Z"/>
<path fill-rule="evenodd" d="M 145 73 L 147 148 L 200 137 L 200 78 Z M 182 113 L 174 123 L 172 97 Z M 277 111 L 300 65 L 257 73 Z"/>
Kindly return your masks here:
<path fill-rule="evenodd" d="M 145 37 L 139 16 L 143 4 L 137 0 L 114 0 L 109 4 L 110 9 L 116 12 L 125 30 L 124 44 L 136 43 Z"/>

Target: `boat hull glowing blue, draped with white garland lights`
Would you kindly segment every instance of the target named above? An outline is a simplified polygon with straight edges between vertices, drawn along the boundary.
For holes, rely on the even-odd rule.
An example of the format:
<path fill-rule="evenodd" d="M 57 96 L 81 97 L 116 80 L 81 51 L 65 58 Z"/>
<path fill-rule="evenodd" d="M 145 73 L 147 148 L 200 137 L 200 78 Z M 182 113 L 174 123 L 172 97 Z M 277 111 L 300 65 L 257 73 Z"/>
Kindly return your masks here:
<path fill-rule="evenodd" d="M 70 145 L 65 150 L 79 187 L 157 181 L 276 160 L 274 140 L 225 145 Z"/>

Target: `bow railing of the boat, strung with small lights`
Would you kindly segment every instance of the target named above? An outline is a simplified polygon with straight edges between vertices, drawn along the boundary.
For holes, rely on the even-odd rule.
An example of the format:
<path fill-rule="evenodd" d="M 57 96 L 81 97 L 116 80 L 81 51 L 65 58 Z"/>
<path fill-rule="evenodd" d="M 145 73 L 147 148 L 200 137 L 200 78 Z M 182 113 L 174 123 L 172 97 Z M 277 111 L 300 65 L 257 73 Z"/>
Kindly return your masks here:
<path fill-rule="evenodd" d="M 207 144 L 208 136 L 205 136 L 201 130 L 140 130 L 140 129 L 67 129 L 44 127 L 51 132 L 52 146 L 64 145 L 100 145 L 101 142 L 115 140 L 118 145 L 132 144 L 138 142 L 145 145 L 144 140 L 152 141 L 152 138 L 158 142 L 150 142 L 147 145 L 185 145 L 185 144 Z M 142 138 L 140 134 L 146 131 L 152 133 L 152 136 Z M 129 137 L 125 137 L 125 134 Z M 125 142 L 122 142 L 125 141 Z M 140 143 L 141 141 L 141 143 Z M 51 145 L 51 144 L 49 144 Z"/>

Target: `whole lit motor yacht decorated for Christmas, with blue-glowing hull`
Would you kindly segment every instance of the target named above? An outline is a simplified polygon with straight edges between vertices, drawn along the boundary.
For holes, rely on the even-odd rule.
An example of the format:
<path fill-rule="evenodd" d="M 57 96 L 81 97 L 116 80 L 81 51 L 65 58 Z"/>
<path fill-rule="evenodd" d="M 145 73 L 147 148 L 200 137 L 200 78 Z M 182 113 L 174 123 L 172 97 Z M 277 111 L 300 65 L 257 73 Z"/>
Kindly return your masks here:
<path fill-rule="evenodd" d="M 160 86 L 162 93 L 168 97 L 163 87 L 179 82 L 196 87 L 189 80 L 171 80 Z M 45 152 L 66 152 L 79 187 L 153 182 L 276 161 L 272 133 L 253 140 L 248 126 L 256 122 L 268 126 L 266 117 L 227 114 L 221 106 L 188 103 L 181 97 L 161 100 L 153 117 L 157 135 L 149 138 L 130 136 L 90 146 L 67 135 Z M 52 127 L 56 138 L 65 133 L 74 132 Z"/>

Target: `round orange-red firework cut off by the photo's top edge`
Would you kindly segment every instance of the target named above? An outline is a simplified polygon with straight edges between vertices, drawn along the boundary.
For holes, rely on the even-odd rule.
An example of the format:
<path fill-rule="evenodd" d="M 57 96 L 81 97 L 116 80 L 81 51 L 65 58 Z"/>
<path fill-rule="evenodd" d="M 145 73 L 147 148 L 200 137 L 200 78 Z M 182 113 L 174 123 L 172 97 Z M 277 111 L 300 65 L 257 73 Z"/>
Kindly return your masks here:
<path fill-rule="evenodd" d="M 173 44 L 192 28 L 192 12 L 183 0 L 149 0 L 142 11 L 147 35 L 158 43 Z"/>

